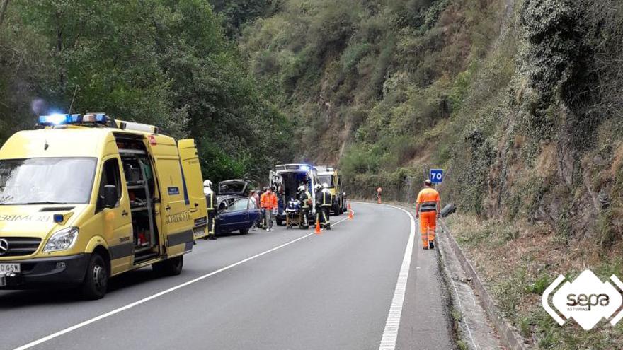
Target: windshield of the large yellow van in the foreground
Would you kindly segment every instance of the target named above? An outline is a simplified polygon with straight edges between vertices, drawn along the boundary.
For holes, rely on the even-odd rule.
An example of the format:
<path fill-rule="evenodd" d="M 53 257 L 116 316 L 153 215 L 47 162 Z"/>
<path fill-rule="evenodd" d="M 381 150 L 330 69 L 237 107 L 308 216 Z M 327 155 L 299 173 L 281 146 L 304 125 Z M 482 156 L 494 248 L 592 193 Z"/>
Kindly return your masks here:
<path fill-rule="evenodd" d="M 86 204 L 96 158 L 0 160 L 0 205 Z"/>

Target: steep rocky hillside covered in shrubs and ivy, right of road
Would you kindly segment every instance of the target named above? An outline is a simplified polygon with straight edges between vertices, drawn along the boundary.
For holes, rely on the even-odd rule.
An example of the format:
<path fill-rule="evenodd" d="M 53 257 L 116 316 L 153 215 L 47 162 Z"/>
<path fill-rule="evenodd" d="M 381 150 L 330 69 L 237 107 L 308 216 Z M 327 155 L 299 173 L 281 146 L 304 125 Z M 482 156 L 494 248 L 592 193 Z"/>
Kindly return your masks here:
<path fill-rule="evenodd" d="M 611 0 L 270 3 L 241 27 L 299 157 L 350 192 L 413 200 L 428 168 L 463 212 L 608 248 L 623 235 L 623 4 Z"/>

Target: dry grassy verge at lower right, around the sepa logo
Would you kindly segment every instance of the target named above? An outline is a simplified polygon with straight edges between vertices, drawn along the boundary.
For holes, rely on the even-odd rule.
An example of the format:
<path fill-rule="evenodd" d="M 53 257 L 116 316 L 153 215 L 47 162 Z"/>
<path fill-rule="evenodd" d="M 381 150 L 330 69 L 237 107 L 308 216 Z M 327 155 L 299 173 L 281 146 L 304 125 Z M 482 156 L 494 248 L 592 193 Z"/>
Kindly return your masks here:
<path fill-rule="evenodd" d="M 446 223 L 498 308 L 530 349 L 623 349 L 623 323 L 612 327 L 602 320 L 588 332 L 573 320 L 561 327 L 540 300 L 559 274 L 573 280 L 591 269 L 603 281 L 612 274 L 623 277 L 623 255 L 605 255 L 590 242 L 561 242 L 544 226 L 481 221 L 462 214 L 450 216 Z"/>

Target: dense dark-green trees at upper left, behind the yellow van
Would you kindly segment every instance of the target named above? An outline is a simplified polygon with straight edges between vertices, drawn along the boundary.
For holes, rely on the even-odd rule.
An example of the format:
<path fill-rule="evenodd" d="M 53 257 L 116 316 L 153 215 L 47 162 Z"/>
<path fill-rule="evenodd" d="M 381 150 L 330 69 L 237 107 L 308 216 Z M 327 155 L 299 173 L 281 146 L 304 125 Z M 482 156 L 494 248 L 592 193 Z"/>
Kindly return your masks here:
<path fill-rule="evenodd" d="M 206 1 L 13 0 L 0 30 L 0 141 L 71 109 L 194 137 L 212 180 L 263 180 L 288 156 L 272 88 Z"/>

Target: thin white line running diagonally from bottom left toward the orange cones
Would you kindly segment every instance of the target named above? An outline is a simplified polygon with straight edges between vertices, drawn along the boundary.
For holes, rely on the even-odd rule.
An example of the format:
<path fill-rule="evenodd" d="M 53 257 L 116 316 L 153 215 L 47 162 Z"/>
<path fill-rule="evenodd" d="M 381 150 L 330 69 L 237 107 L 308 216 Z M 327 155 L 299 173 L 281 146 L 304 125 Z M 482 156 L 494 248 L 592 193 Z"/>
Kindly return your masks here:
<path fill-rule="evenodd" d="M 339 223 L 342 223 L 342 222 L 344 222 L 346 220 L 348 220 L 348 218 L 343 218 L 342 220 L 340 220 L 340 221 L 338 221 L 336 223 L 333 223 L 331 225 L 332 226 L 336 226 Z M 205 274 L 203 276 L 197 277 L 196 279 L 191 279 L 190 281 L 185 282 L 183 284 L 179 284 L 178 286 L 174 286 L 173 288 L 168 288 L 168 289 L 166 289 L 166 291 L 161 291 L 160 293 L 156 293 L 153 296 L 148 296 L 147 298 L 141 299 L 139 301 L 135 301 L 134 303 L 127 304 L 125 306 L 122 306 L 121 308 L 109 311 L 108 313 L 104 313 L 104 314 L 99 315 L 97 317 L 93 317 L 93 318 L 91 318 L 91 320 L 86 320 L 84 322 L 80 322 L 77 325 L 73 325 L 72 327 L 68 327 L 68 328 L 62 329 L 62 330 L 60 330 L 60 331 L 58 331 L 58 332 L 56 332 L 54 334 L 48 335 L 47 337 L 43 337 L 41 339 L 35 340 L 34 342 L 30 342 L 28 344 L 20 346 L 20 347 L 16 348 L 15 350 L 25 350 L 25 349 L 33 348 L 34 346 L 37 346 L 39 344 L 48 342 L 48 341 L 50 341 L 52 339 L 58 338 L 58 337 L 62 336 L 63 334 L 67 334 L 69 332 L 73 332 L 76 329 L 85 327 L 87 325 L 91 325 L 91 323 L 98 322 L 99 320 L 103 320 L 103 319 L 105 319 L 107 317 L 110 317 L 110 316 L 116 315 L 118 313 L 121 313 L 122 311 L 134 308 L 135 306 L 138 306 L 138 305 L 141 305 L 141 304 L 144 304 L 144 303 L 147 303 L 148 301 L 152 301 L 155 298 L 159 298 L 159 297 L 164 296 L 164 295 L 166 295 L 168 293 L 171 293 L 173 291 L 177 291 L 178 289 L 184 288 L 185 286 L 190 286 L 190 284 L 195 284 L 198 281 L 202 281 L 203 279 L 207 279 L 210 276 L 214 276 L 215 274 L 219 274 L 220 272 L 224 272 L 224 271 L 227 271 L 229 269 L 232 269 L 232 267 L 236 267 L 236 266 L 238 266 L 240 264 L 244 264 L 245 262 L 248 262 L 250 260 L 256 259 L 256 258 L 261 257 L 263 255 L 267 255 L 270 252 L 274 252 L 275 250 L 279 250 L 282 247 L 287 247 L 288 245 L 291 245 L 292 243 L 298 242 L 299 240 L 302 240 L 302 239 L 307 238 L 307 237 L 309 237 L 311 235 L 314 235 L 314 234 L 315 233 L 313 233 L 313 232 L 312 233 L 308 233 L 307 235 L 299 237 L 299 238 L 297 238 L 295 240 L 290 240 L 290 242 L 287 242 L 287 243 L 284 243 L 282 245 L 279 245 L 278 247 L 274 247 L 274 248 L 272 248 L 270 250 L 266 250 L 265 252 L 261 252 L 259 254 L 253 255 L 252 257 L 248 257 L 248 258 L 246 258 L 244 260 L 240 260 L 239 262 L 236 262 L 236 263 L 231 264 L 229 266 L 223 267 L 222 269 L 217 269 L 215 272 L 210 272 L 210 274 Z"/>

